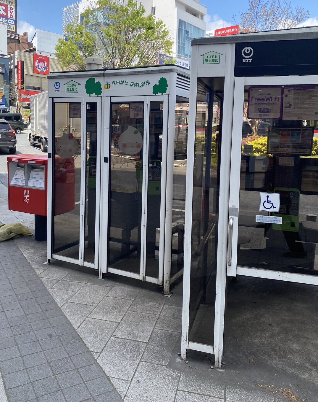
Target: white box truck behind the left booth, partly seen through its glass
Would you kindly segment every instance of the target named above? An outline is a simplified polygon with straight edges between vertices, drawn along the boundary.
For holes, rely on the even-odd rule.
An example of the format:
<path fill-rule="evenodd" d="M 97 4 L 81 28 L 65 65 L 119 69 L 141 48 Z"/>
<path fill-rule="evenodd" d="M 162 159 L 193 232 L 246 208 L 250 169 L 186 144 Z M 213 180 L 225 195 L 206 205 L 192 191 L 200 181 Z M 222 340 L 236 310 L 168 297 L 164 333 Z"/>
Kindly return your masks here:
<path fill-rule="evenodd" d="M 31 110 L 28 121 L 28 139 L 30 146 L 39 145 L 42 152 L 47 152 L 47 92 L 41 92 L 30 96 Z M 69 107 L 67 103 L 59 103 L 56 105 L 59 113 L 55 116 L 55 140 L 62 137 L 64 133 L 72 133 L 81 145 L 81 119 L 69 119 L 70 125 L 65 127 L 63 124 L 69 115 Z"/>

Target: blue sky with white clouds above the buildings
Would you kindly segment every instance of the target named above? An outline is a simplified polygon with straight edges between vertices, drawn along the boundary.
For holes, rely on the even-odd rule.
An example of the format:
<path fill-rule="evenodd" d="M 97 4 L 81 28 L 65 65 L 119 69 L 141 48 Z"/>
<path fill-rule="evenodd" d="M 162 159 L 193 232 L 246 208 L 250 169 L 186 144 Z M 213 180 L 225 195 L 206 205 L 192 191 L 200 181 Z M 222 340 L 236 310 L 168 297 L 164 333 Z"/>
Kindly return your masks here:
<path fill-rule="evenodd" d="M 62 33 L 63 7 L 75 3 L 76 0 L 17 0 L 18 33 L 28 31 L 32 39 L 35 29 L 44 29 Z M 233 22 L 233 14 L 239 17 L 248 7 L 248 0 L 200 0 L 207 7 L 207 31 L 226 27 Z M 301 4 L 309 10 L 311 20 L 307 25 L 318 25 L 318 1 L 304 0 L 299 2 L 291 0 L 292 6 Z"/>

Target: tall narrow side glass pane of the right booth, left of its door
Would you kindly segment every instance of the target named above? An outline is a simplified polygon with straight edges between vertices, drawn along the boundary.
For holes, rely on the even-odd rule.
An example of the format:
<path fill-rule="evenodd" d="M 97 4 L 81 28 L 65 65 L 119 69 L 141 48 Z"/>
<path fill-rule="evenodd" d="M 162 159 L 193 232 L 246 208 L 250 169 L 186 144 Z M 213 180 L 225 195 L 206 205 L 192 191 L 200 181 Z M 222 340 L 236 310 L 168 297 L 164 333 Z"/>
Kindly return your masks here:
<path fill-rule="evenodd" d="M 198 78 L 189 341 L 213 345 L 224 78 Z"/>

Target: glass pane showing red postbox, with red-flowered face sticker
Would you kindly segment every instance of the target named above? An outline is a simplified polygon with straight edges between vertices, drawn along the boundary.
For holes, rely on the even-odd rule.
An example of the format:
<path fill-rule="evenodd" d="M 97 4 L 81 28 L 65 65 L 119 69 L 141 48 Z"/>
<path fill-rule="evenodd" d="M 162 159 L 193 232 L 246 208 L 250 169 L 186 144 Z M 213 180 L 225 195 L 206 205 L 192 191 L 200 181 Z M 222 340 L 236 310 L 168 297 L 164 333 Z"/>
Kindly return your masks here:
<path fill-rule="evenodd" d="M 74 103 L 54 104 L 53 252 L 78 260 L 81 115 L 79 112 L 77 117 L 70 117 L 71 105 Z M 74 113 L 71 112 L 71 116 L 74 116 Z"/>

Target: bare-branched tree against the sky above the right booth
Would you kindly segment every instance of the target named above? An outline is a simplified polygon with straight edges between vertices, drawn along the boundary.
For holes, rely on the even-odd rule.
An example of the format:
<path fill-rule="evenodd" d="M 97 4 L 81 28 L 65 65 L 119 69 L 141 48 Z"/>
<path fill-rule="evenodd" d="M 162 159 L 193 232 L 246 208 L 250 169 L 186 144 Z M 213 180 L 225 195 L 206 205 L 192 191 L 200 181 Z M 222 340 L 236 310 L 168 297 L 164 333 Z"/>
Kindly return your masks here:
<path fill-rule="evenodd" d="M 247 11 L 240 13 L 242 32 L 275 31 L 277 29 L 295 28 L 309 18 L 309 11 L 302 6 L 293 8 L 287 0 L 249 0 Z"/>

